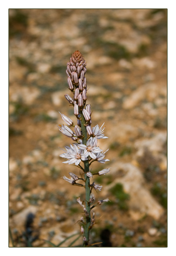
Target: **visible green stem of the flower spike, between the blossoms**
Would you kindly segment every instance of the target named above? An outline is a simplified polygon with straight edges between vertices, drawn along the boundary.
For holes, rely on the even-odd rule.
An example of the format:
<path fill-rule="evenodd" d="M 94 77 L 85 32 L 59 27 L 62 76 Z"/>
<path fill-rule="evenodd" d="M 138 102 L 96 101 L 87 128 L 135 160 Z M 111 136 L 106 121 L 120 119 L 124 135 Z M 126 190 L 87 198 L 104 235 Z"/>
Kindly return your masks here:
<path fill-rule="evenodd" d="M 84 124 L 86 124 L 85 118 L 82 114 L 82 111 L 79 110 L 80 116 L 81 116 L 81 131 L 82 131 L 82 135 L 84 136 L 82 139 L 82 142 L 84 145 L 86 145 L 87 143 L 87 130 Z M 86 225 L 84 228 L 84 237 L 86 237 L 86 242 L 83 242 L 83 246 L 86 247 L 86 245 L 88 244 L 89 241 L 89 231 L 90 231 L 90 224 L 91 224 L 91 216 L 90 216 L 90 203 L 89 203 L 89 199 L 90 199 L 90 179 L 89 177 L 86 175 L 86 172 L 89 172 L 89 161 L 86 160 L 84 161 L 84 176 L 85 176 L 85 190 L 86 190 L 86 210 L 87 213 L 89 214 L 89 216 L 86 217 Z"/>

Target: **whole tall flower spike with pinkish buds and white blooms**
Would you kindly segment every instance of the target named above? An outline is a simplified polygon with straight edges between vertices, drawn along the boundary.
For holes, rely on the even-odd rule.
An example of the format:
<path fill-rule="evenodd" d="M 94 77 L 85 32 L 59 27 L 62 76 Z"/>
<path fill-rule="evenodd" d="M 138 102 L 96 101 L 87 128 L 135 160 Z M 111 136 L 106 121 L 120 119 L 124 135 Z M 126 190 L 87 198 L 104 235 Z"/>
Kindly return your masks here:
<path fill-rule="evenodd" d="M 58 125 L 59 131 L 74 141 L 73 144 L 70 144 L 70 147 L 65 146 L 66 150 L 64 150 L 64 153 L 61 154 L 60 157 L 67 159 L 63 163 L 68 163 L 69 165 L 75 164 L 75 166 L 79 167 L 83 171 L 82 174 L 80 173 L 81 177 L 78 177 L 74 173 L 69 173 L 71 179 L 67 178 L 66 176 L 64 176 L 63 179 L 72 185 L 85 187 L 85 206 L 79 197 L 77 201 L 83 207 L 86 217 L 86 223 L 83 221 L 83 219 L 81 220 L 81 222 L 85 225 L 84 228 L 81 226 L 81 233 L 83 234 L 84 244 L 86 244 L 89 240 L 89 230 L 95 222 L 94 213 L 93 217 L 91 218 L 90 210 L 102 202 L 107 202 L 109 200 L 99 200 L 96 205 L 90 207 L 90 204 L 95 200 L 94 195 L 91 194 L 92 189 L 95 189 L 96 191 L 101 191 L 102 189 L 102 186 L 99 184 L 95 184 L 94 182 L 90 184 L 90 178 L 93 178 L 93 175 L 95 174 L 106 174 L 110 170 L 103 169 L 98 173 L 91 173 L 89 167 L 94 161 L 100 163 L 109 161 L 109 159 L 104 159 L 107 150 L 103 152 L 103 150 L 101 150 L 97 145 L 98 139 L 106 139 L 108 137 L 103 134 L 105 128 L 103 127 L 104 123 L 101 127 L 99 127 L 97 124 L 95 127 L 91 128 L 91 106 L 90 104 L 86 104 L 86 62 L 78 50 L 72 54 L 70 61 L 67 63 L 66 74 L 68 76 L 68 88 L 72 93 L 72 97 L 69 94 L 66 94 L 65 98 L 70 105 L 73 105 L 73 112 L 77 118 L 77 123 L 74 125 L 74 122 L 69 117 L 59 112 L 62 120 L 66 123 L 66 125 Z M 82 175 L 84 175 L 84 178 L 82 178 Z M 85 185 L 77 183 L 78 180 L 85 182 Z"/>

